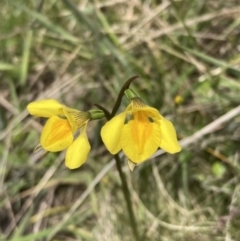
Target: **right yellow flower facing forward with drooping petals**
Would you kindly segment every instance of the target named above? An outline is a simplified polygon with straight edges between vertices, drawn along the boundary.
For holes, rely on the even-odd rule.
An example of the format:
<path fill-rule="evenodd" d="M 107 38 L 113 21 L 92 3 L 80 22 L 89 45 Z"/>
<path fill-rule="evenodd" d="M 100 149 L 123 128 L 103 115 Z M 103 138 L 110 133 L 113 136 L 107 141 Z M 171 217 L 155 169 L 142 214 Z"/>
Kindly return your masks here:
<path fill-rule="evenodd" d="M 101 136 L 110 153 L 122 149 L 133 163 L 145 161 L 159 147 L 169 153 L 181 150 L 172 123 L 138 97 L 103 126 Z"/>

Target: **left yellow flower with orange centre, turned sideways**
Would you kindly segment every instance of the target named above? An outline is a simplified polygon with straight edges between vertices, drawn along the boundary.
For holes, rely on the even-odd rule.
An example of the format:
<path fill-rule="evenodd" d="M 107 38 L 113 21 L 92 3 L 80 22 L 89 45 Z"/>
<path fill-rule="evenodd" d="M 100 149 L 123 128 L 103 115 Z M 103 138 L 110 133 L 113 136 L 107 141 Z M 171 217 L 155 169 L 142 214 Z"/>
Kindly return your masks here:
<path fill-rule="evenodd" d="M 65 165 L 70 168 L 80 167 L 87 159 L 91 149 L 86 127 L 91 116 L 56 100 L 46 99 L 31 102 L 27 109 L 31 115 L 49 118 L 43 127 L 40 144 L 46 151 L 57 152 L 67 149 Z M 74 133 L 81 130 L 74 140 Z"/>

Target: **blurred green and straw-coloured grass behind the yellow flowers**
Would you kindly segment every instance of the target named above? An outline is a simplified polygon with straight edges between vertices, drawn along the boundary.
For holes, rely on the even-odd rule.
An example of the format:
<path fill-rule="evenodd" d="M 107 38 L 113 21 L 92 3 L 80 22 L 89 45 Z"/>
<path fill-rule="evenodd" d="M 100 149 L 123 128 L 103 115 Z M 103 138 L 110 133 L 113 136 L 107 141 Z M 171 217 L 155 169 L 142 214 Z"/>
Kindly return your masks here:
<path fill-rule="evenodd" d="M 123 158 L 141 240 L 240 240 L 238 0 L 3 0 L 0 14 L 1 240 L 133 240 L 104 121 L 70 171 L 64 153 L 33 154 L 44 120 L 26 105 L 110 110 L 136 74 L 183 146 L 133 173 Z"/>

